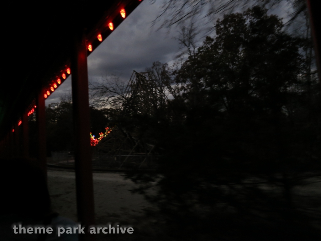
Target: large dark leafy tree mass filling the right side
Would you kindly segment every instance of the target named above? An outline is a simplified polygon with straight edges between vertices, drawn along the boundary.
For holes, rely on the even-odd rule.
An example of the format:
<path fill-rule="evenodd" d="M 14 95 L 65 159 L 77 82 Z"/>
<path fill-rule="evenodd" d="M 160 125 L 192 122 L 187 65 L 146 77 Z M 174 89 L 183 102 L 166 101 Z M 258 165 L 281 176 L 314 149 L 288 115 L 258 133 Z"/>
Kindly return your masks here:
<path fill-rule="evenodd" d="M 305 42 L 283 27 L 260 7 L 219 19 L 216 37 L 173 72 L 169 118 L 144 129 L 163 154 L 159 175 L 128 176 L 141 192 L 156 183 L 148 197 L 177 238 L 213 236 L 200 229 L 227 240 L 319 237 L 303 221 L 319 219 L 300 211 L 293 187 L 320 170 L 320 110 L 309 121 Z"/>

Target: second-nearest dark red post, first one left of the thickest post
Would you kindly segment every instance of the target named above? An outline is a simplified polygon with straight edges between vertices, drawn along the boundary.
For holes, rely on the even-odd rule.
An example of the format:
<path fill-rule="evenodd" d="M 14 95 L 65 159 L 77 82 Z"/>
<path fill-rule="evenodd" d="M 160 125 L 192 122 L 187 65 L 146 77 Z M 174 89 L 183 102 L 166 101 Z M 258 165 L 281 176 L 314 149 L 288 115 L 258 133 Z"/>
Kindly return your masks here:
<path fill-rule="evenodd" d="M 42 91 L 37 96 L 36 107 L 38 162 L 47 180 L 46 112 L 45 97 Z"/>

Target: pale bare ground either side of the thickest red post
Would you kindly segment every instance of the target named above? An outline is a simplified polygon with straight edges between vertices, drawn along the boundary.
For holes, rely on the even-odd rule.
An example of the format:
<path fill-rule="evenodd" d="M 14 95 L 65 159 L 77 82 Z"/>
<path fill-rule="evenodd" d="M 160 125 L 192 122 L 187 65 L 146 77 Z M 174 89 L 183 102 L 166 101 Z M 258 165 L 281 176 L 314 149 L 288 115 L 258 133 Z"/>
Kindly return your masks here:
<path fill-rule="evenodd" d="M 137 187 L 121 173 L 93 173 L 97 224 L 126 222 L 151 208 L 143 195 L 130 192 Z M 72 170 L 48 170 L 48 188 L 52 208 L 61 216 L 77 221 L 75 173 Z"/>

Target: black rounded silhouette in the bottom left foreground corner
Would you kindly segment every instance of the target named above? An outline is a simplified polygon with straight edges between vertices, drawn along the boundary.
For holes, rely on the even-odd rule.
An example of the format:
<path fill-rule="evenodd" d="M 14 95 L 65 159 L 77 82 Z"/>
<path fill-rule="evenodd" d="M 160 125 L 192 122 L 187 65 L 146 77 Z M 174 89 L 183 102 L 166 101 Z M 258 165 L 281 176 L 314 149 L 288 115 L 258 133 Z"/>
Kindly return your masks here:
<path fill-rule="evenodd" d="M 59 217 L 50 208 L 47 183 L 37 162 L 24 159 L 2 159 L 1 162 L 1 240 L 70 240 L 77 235 L 56 236 L 56 225 L 74 225 L 70 219 Z M 52 234 L 14 234 L 13 225 L 53 228 Z M 19 232 L 19 229 L 18 229 Z"/>

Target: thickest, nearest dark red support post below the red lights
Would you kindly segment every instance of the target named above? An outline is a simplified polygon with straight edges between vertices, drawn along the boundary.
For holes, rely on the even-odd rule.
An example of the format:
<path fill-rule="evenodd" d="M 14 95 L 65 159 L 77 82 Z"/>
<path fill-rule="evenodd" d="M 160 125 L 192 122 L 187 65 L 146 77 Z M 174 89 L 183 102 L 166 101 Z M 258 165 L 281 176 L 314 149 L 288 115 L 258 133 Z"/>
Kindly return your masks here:
<path fill-rule="evenodd" d="M 88 94 L 87 46 L 82 31 L 74 34 L 71 56 L 71 80 L 75 139 L 75 172 L 78 221 L 83 225 L 95 223 L 94 192 L 90 148 L 90 111 Z M 82 240 L 93 236 L 84 235 Z"/>

